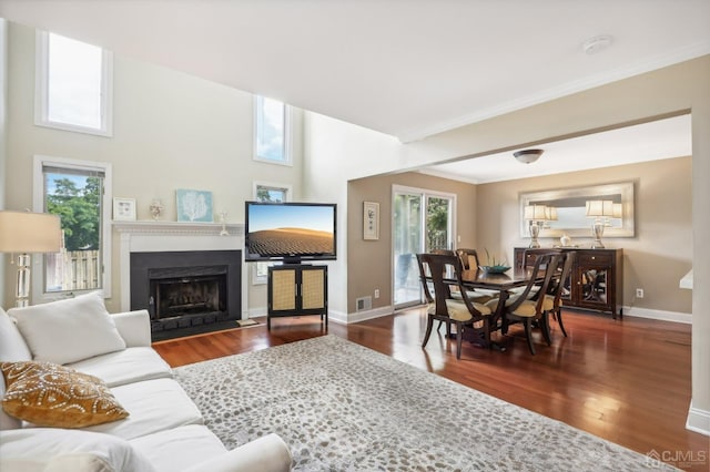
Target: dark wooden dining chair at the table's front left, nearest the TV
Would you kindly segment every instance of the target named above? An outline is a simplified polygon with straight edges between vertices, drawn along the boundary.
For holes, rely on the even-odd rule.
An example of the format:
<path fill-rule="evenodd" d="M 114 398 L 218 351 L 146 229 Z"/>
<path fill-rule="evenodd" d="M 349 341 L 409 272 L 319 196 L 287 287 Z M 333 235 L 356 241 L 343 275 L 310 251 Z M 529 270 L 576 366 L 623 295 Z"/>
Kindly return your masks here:
<path fill-rule="evenodd" d="M 452 325 L 456 326 L 456 359 L 462 357 L 462 343 L 464 330 L 473 330 L 484 336 L 486 346 L 490 347 L 490 315 L 489 307 L 478 304 L 468 298 L 462 279 L 460 259 L 456 255 L 449 254 L 417 254 L 419 274 L 423 278 L 423 286 L 428 290 L 427 281 L 430 280 L 434 287 L 434 295 L 429 293 L 433 302 L 427 308 L 426 334 L 422 348 L 426 347 L 432 336 L 434 320 L 446 324 L 447 337 L 450 336 Z M 460 299 L 452 297 L 452 287 L 457 287 Z M 429 298 L 427 298 L 429 299 Z"/>

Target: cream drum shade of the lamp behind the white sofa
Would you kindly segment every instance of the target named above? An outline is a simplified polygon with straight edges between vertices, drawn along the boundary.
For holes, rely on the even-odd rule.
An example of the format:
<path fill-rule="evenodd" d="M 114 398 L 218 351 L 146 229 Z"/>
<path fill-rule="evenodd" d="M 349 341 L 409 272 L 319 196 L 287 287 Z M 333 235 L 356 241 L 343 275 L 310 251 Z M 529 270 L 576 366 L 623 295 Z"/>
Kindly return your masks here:
<path fill-rule="evenodd" d="M 0 253 L 59 253 L 60 218 L 49 213 L 0 212 Z"/>

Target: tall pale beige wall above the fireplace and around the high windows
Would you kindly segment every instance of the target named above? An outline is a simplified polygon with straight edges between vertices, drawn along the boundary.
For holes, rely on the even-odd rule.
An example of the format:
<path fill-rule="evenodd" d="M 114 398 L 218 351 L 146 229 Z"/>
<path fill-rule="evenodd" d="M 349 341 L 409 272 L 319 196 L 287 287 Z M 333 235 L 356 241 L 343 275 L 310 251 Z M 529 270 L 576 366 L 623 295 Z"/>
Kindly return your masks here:
<path fill-rule="evenodd" d="M 234 223 L 244 222 L 253 181 L 291 184 L 301 196 L 300 140 L 293 167 L 252 160 L 253 95 L 120 55 L 114 55 L 113 137 L 33 125 L 34 30 L 9 24 L 8 208 L 32 207 L 38 154 L 111 163 L 113 194 L 136 199 L 138 219 L 150 219 L 149 205 L 158 197 L 165 205 L 164 219 L 175 220 L 176 188 L 212 191 L 215 212 L 227 212 Z M 300 130 L 301 113 L 295 117 Z M 121 295 L 118 247 L 114 232 L 112 298 L 106 300 L 112 311 Z M 6 274 L 10 270 L 6 263 Z M 12 277 L 7 279 L 4 291 L 11 294 Z M 250 307 L 265 308 L 264 286 L 250 284 L 248 300 Z"/>

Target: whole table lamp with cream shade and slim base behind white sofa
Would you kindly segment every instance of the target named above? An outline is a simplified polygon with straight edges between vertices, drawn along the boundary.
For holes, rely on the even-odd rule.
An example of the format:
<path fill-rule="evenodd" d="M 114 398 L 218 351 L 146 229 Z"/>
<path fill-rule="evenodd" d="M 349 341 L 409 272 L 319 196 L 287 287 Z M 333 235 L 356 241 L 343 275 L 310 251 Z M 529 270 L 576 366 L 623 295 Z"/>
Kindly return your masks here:
<path fill-rule="evenodd" d="M 49 213 L 0 211 L 0 253 L 17 254 L 16 306 L 30 299 L 30 254 L 59 253 L 62 246 L 60 218 Z"/>

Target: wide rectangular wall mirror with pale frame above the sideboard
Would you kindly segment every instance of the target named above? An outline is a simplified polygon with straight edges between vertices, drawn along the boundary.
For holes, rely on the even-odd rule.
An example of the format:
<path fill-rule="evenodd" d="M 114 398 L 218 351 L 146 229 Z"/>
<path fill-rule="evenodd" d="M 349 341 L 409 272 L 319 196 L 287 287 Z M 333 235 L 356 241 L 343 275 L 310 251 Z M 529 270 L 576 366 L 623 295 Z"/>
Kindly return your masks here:
<path fill-rule="evenodd" d="M 520 236 L 530 237 L 526 207 L 545 205 L 555 208 L 557 215 L 556 219 L 542 222 L 538 237 L 594 237 L 591 227 L 595 217 L 587 216 L 587 202 L 592 201 L 610 201 L 620 209 L 620 214 L 617 211 L 615 215 L 604 217 L 604 237 L 635 236 L 633 182 L 520 193 Z"/>

